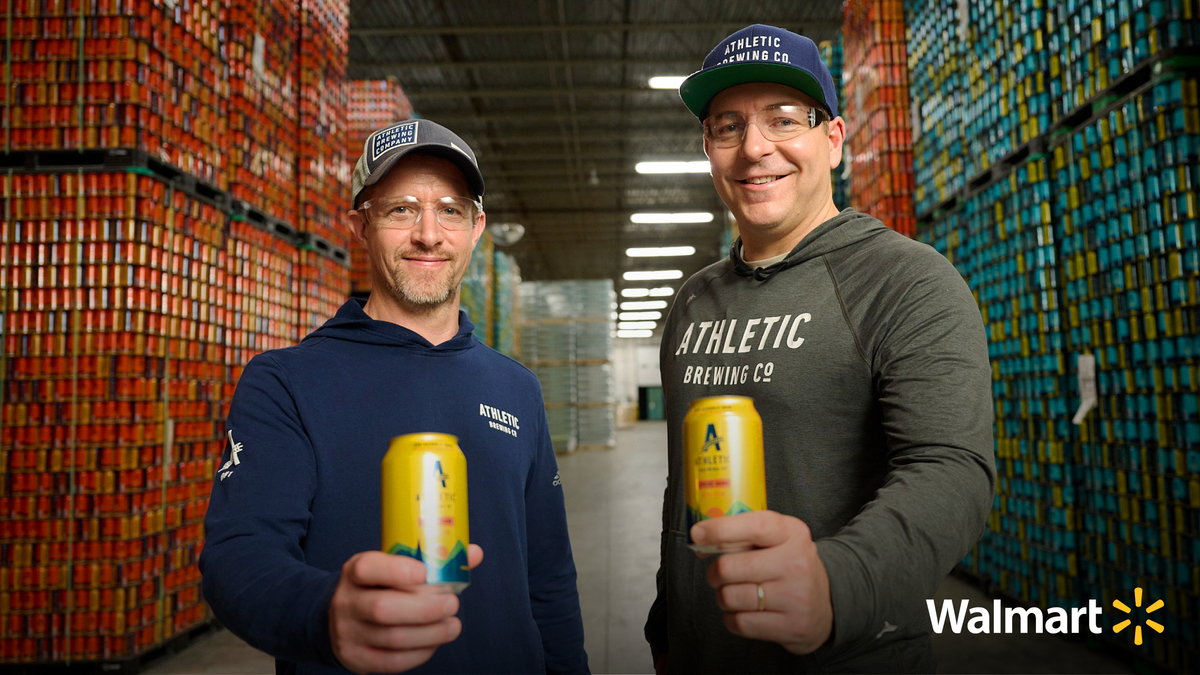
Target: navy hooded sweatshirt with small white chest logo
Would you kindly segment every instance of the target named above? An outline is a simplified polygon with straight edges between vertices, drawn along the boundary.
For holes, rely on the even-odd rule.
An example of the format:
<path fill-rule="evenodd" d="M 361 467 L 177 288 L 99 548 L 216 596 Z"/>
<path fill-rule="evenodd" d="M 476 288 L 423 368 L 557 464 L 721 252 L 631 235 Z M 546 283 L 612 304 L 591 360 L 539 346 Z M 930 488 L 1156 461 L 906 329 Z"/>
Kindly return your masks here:
<path fill-rule="evenodd" d="M 586 673 L 563 490 L 541 387 L 458 333 L 433 346 L 352 299 L 238 383 L 200 556 L 204 597 L 281 673 L 344 673 L 329 639 L 342 565 L 380 546 L 391 438 L 452 434 L 467 456 L 470 540 L 462 634 L 410 673 Z"/>

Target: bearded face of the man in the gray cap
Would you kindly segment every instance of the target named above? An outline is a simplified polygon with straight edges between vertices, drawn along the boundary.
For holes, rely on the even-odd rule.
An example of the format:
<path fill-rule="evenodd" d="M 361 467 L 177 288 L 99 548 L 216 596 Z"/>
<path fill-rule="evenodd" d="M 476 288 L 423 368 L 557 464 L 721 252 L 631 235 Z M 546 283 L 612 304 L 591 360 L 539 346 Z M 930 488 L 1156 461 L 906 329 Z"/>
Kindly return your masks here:
<path fill-rule="evenodd" d="M 462 172 L 452 162 L 430 155 L 408 155 L 392 166 L 379 183 L 368 189 L 368 199 L 410 195 L 422 203 L 440 197 L 474 195 Z M 484 233 L 484 214 L 467 231 L 443 228 L 432 210 L 425 210 L 412 229 L 385 229 L 350 211 L 355 235 L 367 249 L 374 288 L 388 293 L 401 309 L 426 313 L 458 304 L 470 252 Z"/>

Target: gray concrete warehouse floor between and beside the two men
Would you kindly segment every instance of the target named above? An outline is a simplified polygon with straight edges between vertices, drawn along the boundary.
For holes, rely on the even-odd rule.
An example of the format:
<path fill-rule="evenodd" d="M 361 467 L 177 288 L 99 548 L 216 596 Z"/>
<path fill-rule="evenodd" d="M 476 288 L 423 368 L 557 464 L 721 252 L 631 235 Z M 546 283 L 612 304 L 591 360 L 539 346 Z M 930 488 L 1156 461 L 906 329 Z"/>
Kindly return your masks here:
<path fill-rule="evenodd" d="M 642 638 L 659 563 L 666 424 L 642 422 L 618 434 L 611 452 L 560 456 L 566 515 L 578 568 L 586 647 L 593 673 L 652 673 Z M 613 545 L 619 540 L 620 545 Z M 947 578 L 943 598 L 990 605 L 977 587 Z M 1078 641 L 1052 635 L 934 637 L 940 673 L 1133 673 Z M 210 634 L 145 670 L 152 675 L 270 674 L 275 663 L 227 631 Z"/>

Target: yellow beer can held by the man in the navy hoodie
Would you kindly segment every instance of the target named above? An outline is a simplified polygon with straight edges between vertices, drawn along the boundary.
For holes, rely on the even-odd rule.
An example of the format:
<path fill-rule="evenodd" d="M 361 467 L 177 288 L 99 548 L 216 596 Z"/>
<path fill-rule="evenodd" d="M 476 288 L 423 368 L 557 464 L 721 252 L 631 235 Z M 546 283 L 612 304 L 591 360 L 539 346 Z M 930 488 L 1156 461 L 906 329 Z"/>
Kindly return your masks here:
<path fill-rule="evenodd" d="M 407 434 L 383 458 L 383 550 L 425 563 L 425 583 L 445 592 L 470 584 L 467 569 L 467 458 L 449 434 Z"/>

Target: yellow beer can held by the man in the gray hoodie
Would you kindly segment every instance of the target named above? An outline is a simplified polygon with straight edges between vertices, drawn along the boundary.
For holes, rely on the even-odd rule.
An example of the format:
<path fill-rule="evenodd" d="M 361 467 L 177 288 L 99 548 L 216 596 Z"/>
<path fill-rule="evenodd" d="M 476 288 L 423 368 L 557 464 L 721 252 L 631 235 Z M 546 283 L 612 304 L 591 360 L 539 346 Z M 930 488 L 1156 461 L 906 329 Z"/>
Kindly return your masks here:
<path fill-rule="evenodd" d="M 698 552 L 740 550 L 697 546 L 691 526 L 701 520 L 767 508 L 762 418 L 749 396 L 696 399 L 683 420 L 688 544 Z"/>

